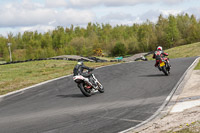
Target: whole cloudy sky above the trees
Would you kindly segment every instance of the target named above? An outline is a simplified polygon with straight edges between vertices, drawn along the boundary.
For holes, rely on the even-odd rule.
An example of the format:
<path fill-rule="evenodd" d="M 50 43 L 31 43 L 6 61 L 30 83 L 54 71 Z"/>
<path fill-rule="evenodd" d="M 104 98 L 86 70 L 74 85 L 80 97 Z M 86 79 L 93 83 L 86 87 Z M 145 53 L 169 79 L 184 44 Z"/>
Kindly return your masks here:
<path fill-rule="evenodd" d="M 0 0 L 0 35 L 25 31 L 41 33 L 57 26 L 86 27 L 88 22 L 133 25 L 162 14 L 194 14 L 200 0 Z"/>

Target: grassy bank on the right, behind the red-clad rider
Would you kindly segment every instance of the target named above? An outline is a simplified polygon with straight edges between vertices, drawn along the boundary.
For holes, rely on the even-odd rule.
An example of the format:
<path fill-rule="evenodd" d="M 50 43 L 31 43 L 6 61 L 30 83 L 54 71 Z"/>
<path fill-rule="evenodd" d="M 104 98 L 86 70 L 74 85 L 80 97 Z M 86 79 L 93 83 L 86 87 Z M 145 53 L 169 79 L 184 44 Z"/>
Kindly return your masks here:
<path fill-rule="evenodd" d="M 167 49 L 164 51 L 169 54 L 168 57 L 170 59 L 200 56 L 200 42 L 183 45 L 183 46 Z M 147 58 L 149 60 L 153 60 L 152 55 L 149 55 Z"/>

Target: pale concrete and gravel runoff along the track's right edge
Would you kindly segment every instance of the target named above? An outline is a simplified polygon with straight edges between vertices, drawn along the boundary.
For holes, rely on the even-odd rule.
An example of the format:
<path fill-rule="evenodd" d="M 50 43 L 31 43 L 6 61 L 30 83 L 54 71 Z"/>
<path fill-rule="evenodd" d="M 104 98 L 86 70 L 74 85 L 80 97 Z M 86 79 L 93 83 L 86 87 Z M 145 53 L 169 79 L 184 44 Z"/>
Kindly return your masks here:
<path fill-rule="evenodd" d="M 200 70 L 189 70 L 170 103 L 154 120 L 128 133 L 166 133 L 200 122 Z M 195 126 L 195 125 L 194 125 Z M 194 132 L 200 132 L 199 125 Z"/>

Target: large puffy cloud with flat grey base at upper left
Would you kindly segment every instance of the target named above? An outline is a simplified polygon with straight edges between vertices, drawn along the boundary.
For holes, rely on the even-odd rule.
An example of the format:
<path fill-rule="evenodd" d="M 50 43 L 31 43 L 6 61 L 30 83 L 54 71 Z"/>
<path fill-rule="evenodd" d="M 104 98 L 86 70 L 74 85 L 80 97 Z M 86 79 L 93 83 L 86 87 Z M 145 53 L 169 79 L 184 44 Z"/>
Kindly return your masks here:
<path fill-rule="evenodd" d="M 27 8 L 29 7 L 29 8 Z M 95 18 L 88 10 L 54 9 L 29 0 L 0 6 L 0 27 L 86 24 Z"/>

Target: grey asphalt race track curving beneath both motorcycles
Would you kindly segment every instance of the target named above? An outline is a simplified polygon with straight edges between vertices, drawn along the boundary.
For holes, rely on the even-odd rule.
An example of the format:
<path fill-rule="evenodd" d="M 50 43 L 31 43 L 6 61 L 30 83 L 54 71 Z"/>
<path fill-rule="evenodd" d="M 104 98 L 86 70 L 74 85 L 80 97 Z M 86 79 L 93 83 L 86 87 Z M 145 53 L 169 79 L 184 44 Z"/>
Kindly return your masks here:
<path fill-rule="evenodd" d="M 0 101 L 0 133 L 116 133 L 151 117 L 196 58 L 171 61 L 170 76 L 154 61 L 94 70 L 105 93 L 84 97 L 72 76 Z"/>

